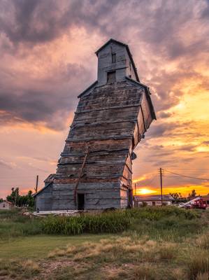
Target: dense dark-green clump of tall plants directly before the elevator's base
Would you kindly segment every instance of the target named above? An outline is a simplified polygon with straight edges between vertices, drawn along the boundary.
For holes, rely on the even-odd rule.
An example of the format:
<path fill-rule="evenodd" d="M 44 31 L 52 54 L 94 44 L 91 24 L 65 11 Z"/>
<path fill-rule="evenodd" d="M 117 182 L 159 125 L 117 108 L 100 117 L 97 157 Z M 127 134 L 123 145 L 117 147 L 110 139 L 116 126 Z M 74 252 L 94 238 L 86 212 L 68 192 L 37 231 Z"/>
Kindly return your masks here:
<path fill-rule="evenodd" d="M 81 233 L 116 233 L 129 228 L 131 219 L 125 211 L 74 217 L 50 216 L 43 220 L 43 232 L 48 234 L 79 235 Z"/>

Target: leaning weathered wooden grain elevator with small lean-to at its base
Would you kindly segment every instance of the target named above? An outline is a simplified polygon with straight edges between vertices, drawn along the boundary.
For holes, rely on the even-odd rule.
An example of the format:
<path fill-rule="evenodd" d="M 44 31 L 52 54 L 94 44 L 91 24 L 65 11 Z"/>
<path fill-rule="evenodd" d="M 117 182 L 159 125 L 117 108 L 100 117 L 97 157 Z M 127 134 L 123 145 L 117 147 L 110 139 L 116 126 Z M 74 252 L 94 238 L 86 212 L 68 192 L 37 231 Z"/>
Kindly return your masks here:
<path fill-rule="evenodd" d="M 154 108 L 128 45 L 110 39 L 96 55 L 97 80 L 78 96 L 57 172 L 35 195 L 40 211 L 132 205 L 134 148 Z"/>

